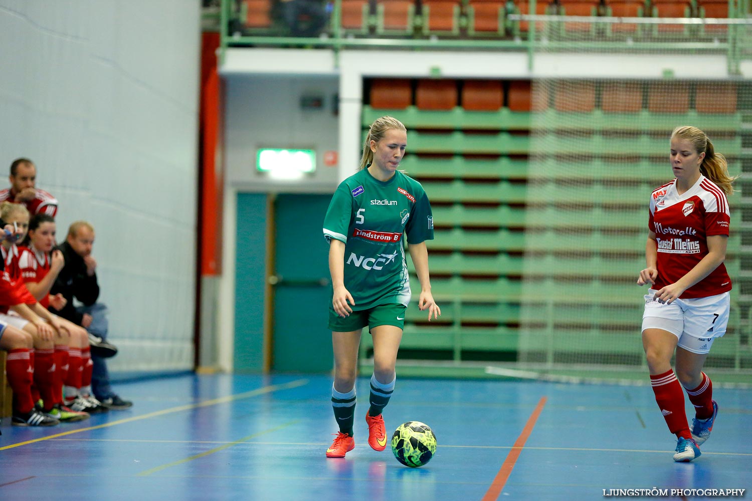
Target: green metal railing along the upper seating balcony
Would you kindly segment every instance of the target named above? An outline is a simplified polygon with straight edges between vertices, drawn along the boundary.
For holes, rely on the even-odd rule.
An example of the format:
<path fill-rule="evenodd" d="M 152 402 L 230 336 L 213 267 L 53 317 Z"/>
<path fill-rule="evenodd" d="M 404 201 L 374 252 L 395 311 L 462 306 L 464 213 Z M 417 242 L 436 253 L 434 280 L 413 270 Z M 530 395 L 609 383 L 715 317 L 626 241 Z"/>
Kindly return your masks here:
<path fill-rule="evenodd" d="M 274 1 L 274 0 L 273 0 Z M 535 12 L 535 0 L 529 2 L 529 11 Z M 322 4 L 325 5 L 325 4 Z M 509 4 L 511 5 L 511 3 Z M 743 59 L 752 59 L 752 17 L 746 0 L 729 0 L 729 17 L 717 18 L 660 18 L 660 17 L 581 17 L 561 15 L 520 14 L 514 8 L 502 11 L 502 26 L 498 33 L 479 36 L 468 32 L 465 12 L 459 17 L 461 31 L 456 34 L 432 32 L 420 13 L 415 15 L 414 27 L 404 34 L 353 32 L 341 25 L 341 0 L 326 4 L 329 23 L 315 37 L 289 36 L 277 20 L 264 29 L 247 28 L 241 19 L 246 5 L 243 0 L 222 0 L 220 32 L 222 48 L 226 47 L 319 47 L 342 49 L 399 48 L 431 50 L 515 51 L 527 52 L 532 66 L 533 54 L 539 44 L 546 50 L 640 52 L 649 50 L 717 53 L 729 60 L 729 72 L 738 73 Z M 374 17 L 375 14 L 371 14 Z M 526 32 L 520 23 L 526 22 Z M 373 25 L 375 23 L 371 23 Z M 581 30 L 568 32 L 564 26 L 587 24 L 592 26 L 592 36 Z M 537 29 L 536 26 L 544 26 Z M 660 26 L 681 27 L 682 33 L 660 33 Z M 637 26 L 635 32 L 614 29 L 617 26 Z M 708 27 L 726 26 L 722 32 L 705 33 Z"/>

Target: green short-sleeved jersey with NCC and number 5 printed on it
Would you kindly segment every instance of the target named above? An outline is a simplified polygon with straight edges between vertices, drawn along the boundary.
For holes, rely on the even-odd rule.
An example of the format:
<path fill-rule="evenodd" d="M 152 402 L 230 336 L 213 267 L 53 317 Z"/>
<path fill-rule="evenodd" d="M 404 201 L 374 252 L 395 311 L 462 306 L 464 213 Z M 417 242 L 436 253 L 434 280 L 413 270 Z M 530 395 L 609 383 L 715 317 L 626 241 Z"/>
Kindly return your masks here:
<path fill-rule="evenodd" d="M 344 286 L 353 309 L 408 306 L 405 245 L 433 240 L 433 216 L 423 186 L 397 171 L 379 181 L 363 169 L 337 187 L 324 218 L 324 238 L 344 242 Z"/>

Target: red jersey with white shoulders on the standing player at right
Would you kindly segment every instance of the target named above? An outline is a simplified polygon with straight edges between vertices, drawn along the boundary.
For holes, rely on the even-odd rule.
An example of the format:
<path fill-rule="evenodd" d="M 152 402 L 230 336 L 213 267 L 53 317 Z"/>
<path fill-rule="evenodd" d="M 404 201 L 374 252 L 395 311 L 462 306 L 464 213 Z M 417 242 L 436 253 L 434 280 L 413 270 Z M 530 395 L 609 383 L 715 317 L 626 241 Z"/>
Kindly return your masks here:
<path fill-rule="evenodd" d="M 658 290 L 681 279 L 708 254 L 708 237 L 729 235 L 726 195 L 707 177 L 679 195 L 676 180 L 653 190 L 648 228 L 658 244 Z M 731 279 L 721 263 L 704 279 L 681 294 L 682 299 L 708 297 L 731 290 Z"/>

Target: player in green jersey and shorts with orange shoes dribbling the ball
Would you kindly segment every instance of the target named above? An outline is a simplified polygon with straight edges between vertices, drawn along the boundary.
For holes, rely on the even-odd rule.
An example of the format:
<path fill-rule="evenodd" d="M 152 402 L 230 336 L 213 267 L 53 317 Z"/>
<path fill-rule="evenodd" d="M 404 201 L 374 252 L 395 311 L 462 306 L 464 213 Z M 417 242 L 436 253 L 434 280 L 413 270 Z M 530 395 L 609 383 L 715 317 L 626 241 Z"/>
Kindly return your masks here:
<path fill-rule="evenodd" d="M 373 122 L 359 172 L 338 186 L 326 211 L 323 232 L 334 291 L 329 308 L 335 359 L 332 407 L 339 426 L 327 457 L 344 457 L 355 447 L 355 379 L 360 333 L 366 325 L 374 346 L 371 406 L 365 414 L 368 445 L 376 451 L 387 446 L 381 411 L 394 391 L 411 297 L 403 234 L 420 281 L 418 307 L 428 310 L 429 321 L 441 315 L 431 294 L 426 250 L 426 240 L 433 239 L 431 205 L 423 186 L 397 170 L 407 141 L 399 120 L 382 116 Z"/>

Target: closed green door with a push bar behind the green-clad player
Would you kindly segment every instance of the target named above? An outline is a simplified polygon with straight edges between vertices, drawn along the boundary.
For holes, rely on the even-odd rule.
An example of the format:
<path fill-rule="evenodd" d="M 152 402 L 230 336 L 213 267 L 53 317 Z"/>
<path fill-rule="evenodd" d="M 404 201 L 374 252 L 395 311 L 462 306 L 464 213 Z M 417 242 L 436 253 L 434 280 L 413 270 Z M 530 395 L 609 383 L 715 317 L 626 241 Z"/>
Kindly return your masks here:
<path fill-rule="evenodd" d="M 329 246 L 321 228 L 332 195 L 277 195 L 274 201 L 272 370 L 332 370 Z M 274 283 L 276 282 L 276 283 Z"/>

